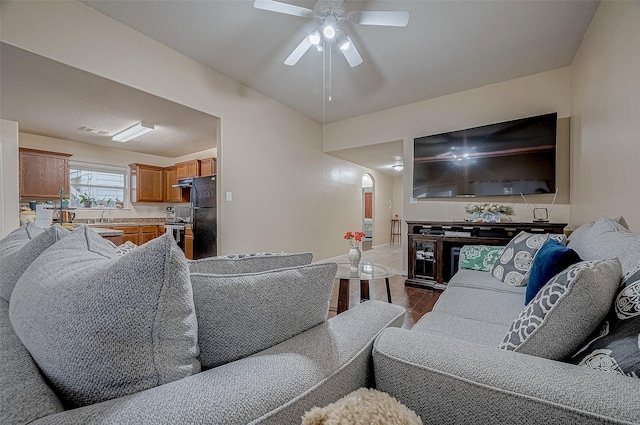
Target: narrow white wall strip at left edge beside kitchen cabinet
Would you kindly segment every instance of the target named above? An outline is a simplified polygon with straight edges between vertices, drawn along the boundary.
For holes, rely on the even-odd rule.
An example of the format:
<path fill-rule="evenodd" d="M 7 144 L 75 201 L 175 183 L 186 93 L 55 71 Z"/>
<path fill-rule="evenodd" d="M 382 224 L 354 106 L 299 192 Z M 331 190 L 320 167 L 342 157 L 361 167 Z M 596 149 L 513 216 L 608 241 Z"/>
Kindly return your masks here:
<path fill-rule="evenodd" d="M 0 120 L 0 238 L 20 225 L 18 123 Z"/>

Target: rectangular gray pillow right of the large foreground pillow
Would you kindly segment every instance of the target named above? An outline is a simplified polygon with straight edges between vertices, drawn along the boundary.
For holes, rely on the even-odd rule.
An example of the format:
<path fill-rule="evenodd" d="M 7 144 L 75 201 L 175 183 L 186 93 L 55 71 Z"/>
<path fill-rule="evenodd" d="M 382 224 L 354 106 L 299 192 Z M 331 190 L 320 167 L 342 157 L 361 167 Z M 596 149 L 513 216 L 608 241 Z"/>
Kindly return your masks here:
<path fill-rule="evenodd" d="M 327 318 L 335 263 L 261 273 L 192 273 L 203 369 L 274 346 Z"/>

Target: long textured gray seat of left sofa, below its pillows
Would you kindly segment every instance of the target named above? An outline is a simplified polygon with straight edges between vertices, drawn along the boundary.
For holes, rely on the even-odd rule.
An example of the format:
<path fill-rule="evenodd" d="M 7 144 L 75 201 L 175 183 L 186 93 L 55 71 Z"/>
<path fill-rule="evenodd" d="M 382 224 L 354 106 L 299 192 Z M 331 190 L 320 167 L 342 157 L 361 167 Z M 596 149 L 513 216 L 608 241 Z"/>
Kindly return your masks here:
<path fill-rule="evenodd" d="M 404 309 L 369 301 L 276 346 L 34 424 L 299 424 L 304 412 L 373 384 L 371 347 Z"/>

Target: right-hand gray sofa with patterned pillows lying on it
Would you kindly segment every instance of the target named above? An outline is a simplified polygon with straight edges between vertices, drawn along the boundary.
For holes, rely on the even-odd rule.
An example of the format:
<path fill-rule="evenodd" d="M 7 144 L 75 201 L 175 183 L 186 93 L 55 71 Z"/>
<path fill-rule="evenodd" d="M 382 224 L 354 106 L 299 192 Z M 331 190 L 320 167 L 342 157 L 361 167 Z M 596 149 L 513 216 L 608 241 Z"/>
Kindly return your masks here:
<path fill-rule="evenodd" d="M 527 306 L 526 286 L 460 270 L 411 330 L 377 338 L 377 389 L 424 423 L 640 423 L 640 236 L 625 226 L 576 229 L 568 247 L 590 261 Z"/>

